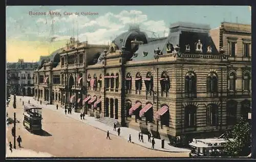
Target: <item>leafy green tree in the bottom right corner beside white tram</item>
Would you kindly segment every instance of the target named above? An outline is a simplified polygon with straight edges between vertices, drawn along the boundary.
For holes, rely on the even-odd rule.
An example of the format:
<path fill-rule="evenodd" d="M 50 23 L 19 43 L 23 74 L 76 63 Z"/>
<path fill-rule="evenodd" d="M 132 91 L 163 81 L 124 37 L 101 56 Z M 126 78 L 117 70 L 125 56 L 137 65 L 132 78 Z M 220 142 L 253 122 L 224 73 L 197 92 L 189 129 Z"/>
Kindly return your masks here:
<path fill-rule="evenodd" d="M 246 156 L 250 153 L 251 125 L 248 121 L 241 118 L 231 130 L 226 130 L 225 138 L 228 140 L 223 149 L 225 156 Z"/>

